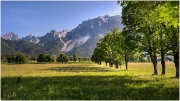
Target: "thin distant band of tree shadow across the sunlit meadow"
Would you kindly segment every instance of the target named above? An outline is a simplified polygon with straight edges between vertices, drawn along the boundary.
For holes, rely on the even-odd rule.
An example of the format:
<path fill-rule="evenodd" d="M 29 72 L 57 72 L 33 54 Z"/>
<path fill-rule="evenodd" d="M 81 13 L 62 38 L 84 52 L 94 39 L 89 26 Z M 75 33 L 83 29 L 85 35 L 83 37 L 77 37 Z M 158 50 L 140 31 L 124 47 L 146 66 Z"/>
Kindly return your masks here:
<path fill-rule="evenodd" d="M 51 70 L 57 72 L 110 72 L 115 71 L 110 68 L 101 68 L 101 67 L 50 67 L 48 69 L 43 70 Z"/>

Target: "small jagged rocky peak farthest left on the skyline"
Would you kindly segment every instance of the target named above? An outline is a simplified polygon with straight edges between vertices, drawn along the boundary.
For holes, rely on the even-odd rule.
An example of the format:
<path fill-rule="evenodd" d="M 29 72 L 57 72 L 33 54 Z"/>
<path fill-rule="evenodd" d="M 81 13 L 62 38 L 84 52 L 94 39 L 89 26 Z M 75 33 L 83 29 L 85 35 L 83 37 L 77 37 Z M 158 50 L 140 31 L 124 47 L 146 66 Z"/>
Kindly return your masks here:
<path fill-rule="evenodd" d="M 14 34 L 13 32 L 6 33 L 5 35 L 1 36 L 5 40 L 18 40 L 19 36 Z"/>

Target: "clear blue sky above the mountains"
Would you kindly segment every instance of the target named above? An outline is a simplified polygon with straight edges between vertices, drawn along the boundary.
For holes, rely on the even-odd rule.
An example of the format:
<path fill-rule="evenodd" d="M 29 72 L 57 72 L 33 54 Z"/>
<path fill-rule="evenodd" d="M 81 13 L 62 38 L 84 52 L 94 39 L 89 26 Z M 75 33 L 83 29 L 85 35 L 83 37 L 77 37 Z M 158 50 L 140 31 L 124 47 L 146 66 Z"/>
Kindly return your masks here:
<path fill-rule="evenodd" d="M 121 15 L 117 1 L 2 1 L 1 35 L 43 36 L 52 29 L 74 29 L 82 21 Z"/>

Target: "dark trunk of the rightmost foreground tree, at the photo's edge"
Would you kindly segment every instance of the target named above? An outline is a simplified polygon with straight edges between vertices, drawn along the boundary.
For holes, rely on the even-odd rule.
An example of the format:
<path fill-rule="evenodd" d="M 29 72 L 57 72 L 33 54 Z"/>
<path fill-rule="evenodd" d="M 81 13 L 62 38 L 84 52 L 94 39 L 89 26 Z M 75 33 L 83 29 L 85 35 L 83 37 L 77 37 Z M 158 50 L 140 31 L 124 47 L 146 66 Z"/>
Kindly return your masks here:
<path fill-rule="evenodd" d="M 174 56 L 174 64 L 176 67 L 176 78 L 179 78 L 179 50 L 177 50 L 176 52 L 173 52 L 173 56 Z"/>

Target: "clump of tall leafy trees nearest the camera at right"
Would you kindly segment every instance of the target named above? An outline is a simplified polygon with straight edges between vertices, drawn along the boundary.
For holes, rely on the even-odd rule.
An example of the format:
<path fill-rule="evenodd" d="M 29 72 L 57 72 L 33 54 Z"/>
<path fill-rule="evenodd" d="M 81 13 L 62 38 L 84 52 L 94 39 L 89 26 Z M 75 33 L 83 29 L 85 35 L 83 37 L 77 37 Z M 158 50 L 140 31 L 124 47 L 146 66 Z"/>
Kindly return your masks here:
<path fill-rule="evenodd" d="M 168 51 L 166 46 L 168 44 L 172 46 L 169 49 L 174 51 L 176 77 L 179 77 L 178 1 L 123 1 L 121 5 L 125 29 L 131 35 L 141 36 L 141 47 L 144 47 L 151 57 L 154 74 L 158 74 L 157 53 L 159 51 L 162 58 L 162 74 L 165 74 L 164 55 Z M 167 29 L 172 31 L 171 35 L 166 33 Z"/>

